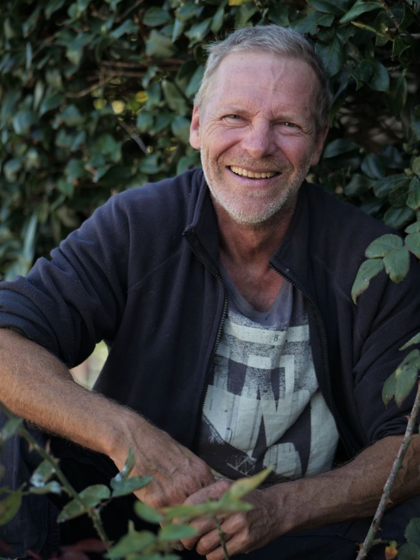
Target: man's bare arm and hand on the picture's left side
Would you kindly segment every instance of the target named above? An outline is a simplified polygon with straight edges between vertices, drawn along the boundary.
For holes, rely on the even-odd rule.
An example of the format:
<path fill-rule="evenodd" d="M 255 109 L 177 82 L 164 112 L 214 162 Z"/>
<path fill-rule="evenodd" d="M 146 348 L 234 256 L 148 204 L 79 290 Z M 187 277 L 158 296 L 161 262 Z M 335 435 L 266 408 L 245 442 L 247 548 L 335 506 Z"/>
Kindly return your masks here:
<path fill-rule="evenodd" d="M 38 344 L 0 329 L 0 400 L 15 414 L 108 455 L 122 469 L 128 448 L 133 474 L 153 480 L 138 497 L 152 505 L 182 503 L 214 481 L 207 465 L 139 414 L 78 385 Z"/>

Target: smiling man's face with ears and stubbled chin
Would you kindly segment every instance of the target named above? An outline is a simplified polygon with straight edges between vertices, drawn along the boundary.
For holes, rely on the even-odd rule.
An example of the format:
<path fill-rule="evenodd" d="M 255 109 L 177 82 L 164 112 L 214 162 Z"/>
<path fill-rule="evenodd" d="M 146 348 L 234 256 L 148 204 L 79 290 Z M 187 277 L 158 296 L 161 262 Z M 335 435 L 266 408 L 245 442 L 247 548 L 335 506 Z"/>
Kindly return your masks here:
<path fill-rule="evenodd" d="M 261 224 L 293 200 L 325 132 L 312 116 L 318 82 L 306 62 L 232 53 L 194 108 L 190 143 L 201 151 L 213 201 L 237 223 Z"/>

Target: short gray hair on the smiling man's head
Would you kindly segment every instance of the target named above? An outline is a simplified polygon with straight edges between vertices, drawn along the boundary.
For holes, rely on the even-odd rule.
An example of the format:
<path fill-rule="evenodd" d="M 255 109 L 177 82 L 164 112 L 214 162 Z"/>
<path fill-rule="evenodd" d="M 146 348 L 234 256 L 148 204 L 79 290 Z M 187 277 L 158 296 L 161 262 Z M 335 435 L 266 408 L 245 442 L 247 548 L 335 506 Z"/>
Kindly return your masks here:
<path fill-rule="evenodd" d="M 206 46 L 208 59 L 204 69 L 203 80 L 194 98 L 194 104 L 200 108 L 207 99 L 212 86 L 212 77 L 222 60 L 231 53 L 258 52 L 271 53 L 278 57 L 297 58 L 304 60 L 314 69 L 318 78 L 318 94 L 314 100 L 314 119 L 316 133 L 325 127 L 330 109 L 330 92 L 328 77 L 318 55 L 312 45 L 290 27 L 278 25 L 258 25 L 237 29 L 223 41 L 210 43 Z"/>

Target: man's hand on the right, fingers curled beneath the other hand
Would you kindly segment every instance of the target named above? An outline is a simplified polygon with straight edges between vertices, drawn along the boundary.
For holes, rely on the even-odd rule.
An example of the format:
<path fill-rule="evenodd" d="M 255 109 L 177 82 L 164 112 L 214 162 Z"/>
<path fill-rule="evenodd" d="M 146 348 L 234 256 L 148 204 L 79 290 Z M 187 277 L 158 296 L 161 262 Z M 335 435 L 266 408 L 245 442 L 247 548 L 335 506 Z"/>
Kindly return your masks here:
<path fill-rule="evenodd" d="M 218 480 L 211 486 L 195 492 L 184 503 L 196 504 L 206 502 L 208 499 L 219 500 L 231 484 L 229 480 Z M 230 556 L 263 547 L 281 534 L 278 505 L 270 488 L 254 490 L 246 496 L 245 500 L 251 503 L 252 510 L 218 517 L 221 530 L 225 535 L 226 550 Z M 223 560 L 223 549 L 214 521 L 202 517 L 192 521 L 191 525 L 198 530 L 198 533 L 183 539 L 181 543 L 184 547 L 188 549 L 195 547 L 199 554 L 206 556 L 207 560 Z"/>

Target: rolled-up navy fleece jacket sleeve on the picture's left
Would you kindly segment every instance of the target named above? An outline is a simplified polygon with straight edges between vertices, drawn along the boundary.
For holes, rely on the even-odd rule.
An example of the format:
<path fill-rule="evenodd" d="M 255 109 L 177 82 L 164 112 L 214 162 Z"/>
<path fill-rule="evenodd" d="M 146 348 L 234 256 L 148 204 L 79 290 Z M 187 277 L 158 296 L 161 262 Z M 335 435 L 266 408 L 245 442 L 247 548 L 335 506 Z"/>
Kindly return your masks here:
<path fill-rule="evenodd" d="M 41 344 L 69 367 L 85 360 L 99 340 L 112 340 L 124 312 L 129 220 L 119 200 L 111 197 L 26 278 L 0 284 L 0 326 Z"/>

